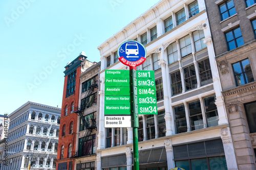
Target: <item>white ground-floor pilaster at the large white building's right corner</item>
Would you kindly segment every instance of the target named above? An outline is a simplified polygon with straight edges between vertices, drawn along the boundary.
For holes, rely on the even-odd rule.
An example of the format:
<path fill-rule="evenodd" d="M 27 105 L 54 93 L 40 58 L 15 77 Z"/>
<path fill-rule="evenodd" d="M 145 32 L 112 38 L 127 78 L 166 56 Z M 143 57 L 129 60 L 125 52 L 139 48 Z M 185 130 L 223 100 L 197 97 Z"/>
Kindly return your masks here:
<path fill-rule="evenodd" d="M 223 142 L 225 158 L 227 162 L 227 169 L 237 170 L 238 166 L 236 162 L 236 156 L 234 154 L 234 148 L 233 148 L 229 127 L 220 129 L 220 133 L 221 133 L 221 139 Z"/>

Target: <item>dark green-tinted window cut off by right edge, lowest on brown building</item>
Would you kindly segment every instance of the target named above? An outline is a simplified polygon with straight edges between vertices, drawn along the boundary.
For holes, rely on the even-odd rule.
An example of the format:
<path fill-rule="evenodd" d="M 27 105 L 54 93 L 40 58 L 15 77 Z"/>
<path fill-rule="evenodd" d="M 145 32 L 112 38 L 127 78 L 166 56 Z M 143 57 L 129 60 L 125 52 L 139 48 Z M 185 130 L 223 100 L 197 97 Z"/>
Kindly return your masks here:
<path fill-rule="evenodd" d="M 244 105 L 246 117 L 247 117 L 247 122 L 248 122 L 248 127 L 250 133 L 255 133 L 256 132 L 256 102 L 250 102 L 246 103 Z"/>

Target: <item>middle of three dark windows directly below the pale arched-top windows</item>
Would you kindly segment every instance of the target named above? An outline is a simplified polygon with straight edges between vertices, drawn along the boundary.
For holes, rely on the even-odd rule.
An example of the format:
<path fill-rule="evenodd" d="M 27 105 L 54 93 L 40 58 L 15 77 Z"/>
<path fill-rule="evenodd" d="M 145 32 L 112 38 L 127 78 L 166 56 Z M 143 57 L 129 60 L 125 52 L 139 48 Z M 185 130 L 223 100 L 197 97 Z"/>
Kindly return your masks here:
<path fill-rule="evenodd" d="M 197 87 L 197 76 L 194 64 L 184 68 L 184 77 L 186 90 L 194 89 Z"/>

